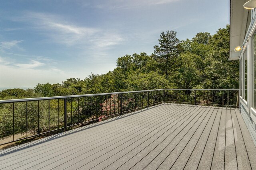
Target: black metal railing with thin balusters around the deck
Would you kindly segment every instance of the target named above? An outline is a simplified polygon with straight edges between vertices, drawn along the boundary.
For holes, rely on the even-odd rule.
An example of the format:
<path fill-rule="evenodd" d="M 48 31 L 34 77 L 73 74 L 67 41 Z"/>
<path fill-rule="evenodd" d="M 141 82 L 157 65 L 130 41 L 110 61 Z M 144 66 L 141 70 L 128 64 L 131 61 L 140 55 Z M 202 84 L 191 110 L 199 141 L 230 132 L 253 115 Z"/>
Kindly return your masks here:
<path fill-rule="evenodd" d="M 0 100 L 0 145 L 163 103 L 238 107 L 238 89 L 157 89 Z"/>

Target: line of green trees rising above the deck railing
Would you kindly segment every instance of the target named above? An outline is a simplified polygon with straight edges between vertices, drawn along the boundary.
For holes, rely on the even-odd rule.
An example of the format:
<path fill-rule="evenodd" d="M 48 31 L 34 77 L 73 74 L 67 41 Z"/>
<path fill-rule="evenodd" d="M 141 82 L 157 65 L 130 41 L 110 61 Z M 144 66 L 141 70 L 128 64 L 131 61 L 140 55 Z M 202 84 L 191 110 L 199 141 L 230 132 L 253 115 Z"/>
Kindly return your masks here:
<path fill-rule="evenodd" d="M 38 84 L 34 90 L 8 89 L 1 100 L 95 94 L 159 88 L 238 88 L 239 61 L 228 61 L 230 26 L 217 33 L 197 33 L 186 41 L 175 31 L 162 32 L 154 53 L 125 55 L 106 74 L 84 80 L 69 78 L 61 84 Z"/>

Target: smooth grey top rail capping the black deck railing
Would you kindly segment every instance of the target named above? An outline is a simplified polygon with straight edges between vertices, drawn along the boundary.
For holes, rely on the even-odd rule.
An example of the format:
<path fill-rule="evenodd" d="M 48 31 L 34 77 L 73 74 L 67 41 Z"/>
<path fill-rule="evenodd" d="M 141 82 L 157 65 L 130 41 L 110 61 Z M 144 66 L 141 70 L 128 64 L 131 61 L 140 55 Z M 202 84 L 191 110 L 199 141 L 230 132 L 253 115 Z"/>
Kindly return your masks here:
<path fill-rule="evenodd" d="M 54 97 L 42 97 L 42 98 L 26 98 L 26 99 L 11 99 L 11 100 L 0 100 L 0 104 L 2 103 L 15 103 L 15 102 L 30 102 L 30 101 L 38 101 L 38 100 L 52 100 L 52 99 L 64 99 L 64 98 L 79 98 L 79 97 L 88 97 L 88 96 L 104 96 L 111 94 L 126 94 L 126 93 L 140 93 L 140 92 L 152 92 L 159 90 L 239 90 L 239 89 L 194 89 L 194 88 L 163 88 L 163 89 L 155 89 L 155 90 L 140 90 L 140 91 L 126 91 L 126 92 L 112 92 L 112 93 L 98 93 L 98 94 L 81 94 L 81 95 L 70 95 L 70 96 L 54 96 Z"/>

